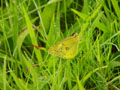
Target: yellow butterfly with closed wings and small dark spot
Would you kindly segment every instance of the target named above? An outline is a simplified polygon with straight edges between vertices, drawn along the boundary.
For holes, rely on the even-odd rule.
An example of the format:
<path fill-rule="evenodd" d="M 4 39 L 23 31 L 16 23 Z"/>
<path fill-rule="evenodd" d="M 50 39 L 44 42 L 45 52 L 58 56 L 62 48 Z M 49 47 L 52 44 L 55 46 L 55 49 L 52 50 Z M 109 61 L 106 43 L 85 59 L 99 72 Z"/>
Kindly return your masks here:
<path fill-rule="evenodd" d="M 76 33 L 73 36 L 58 42 L 51 46 L 48 53 L 53 56 L 59 56 L 61 58 L 70 59 L 74 58 L 77 54 L 79 46 L 79 35 Z"/>

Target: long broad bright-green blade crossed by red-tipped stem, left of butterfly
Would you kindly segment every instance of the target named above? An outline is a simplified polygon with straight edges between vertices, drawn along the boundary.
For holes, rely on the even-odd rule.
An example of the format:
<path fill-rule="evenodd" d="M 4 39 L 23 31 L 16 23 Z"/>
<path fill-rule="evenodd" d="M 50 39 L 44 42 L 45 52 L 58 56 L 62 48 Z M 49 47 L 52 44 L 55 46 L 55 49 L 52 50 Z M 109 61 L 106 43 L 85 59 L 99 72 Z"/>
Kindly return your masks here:
<path fill-rule="evenodd" d="M 37 45 L 37 46 L 38 46 L 37 39 L 36 39 L 36 37 L 35 37 L 35 33 L 34 33 L 33 28 L 32 28 L 31 21 L 30 21 L 28 15 L 27 15 L 27 12 L 26 12 L 24 6 L 22 6 L 22 11 L 23 11 L 24 16 L 25 16 L 26 24 L 27 24 L 27 27 L 28 27 L 28 31 L 29 31 L 29 34 L 30 34 L 30 38 L 31 38 L 31 40 L 32 40 L 32 43 L 33 43 L 34 45 Z M 37 56 L 37 59 L 38 59 L 39 63 L 41 63 L 41 62 L 42 62 L 41 52 L 38 51 L 37 49 L 35 49 L 35 54 L 36 54 L 36 56 Z"/>

